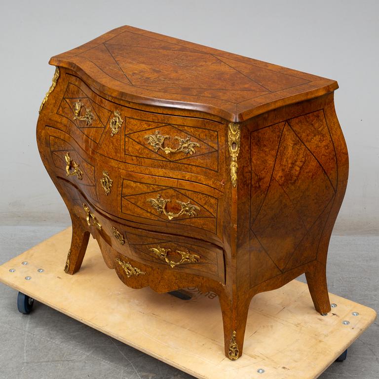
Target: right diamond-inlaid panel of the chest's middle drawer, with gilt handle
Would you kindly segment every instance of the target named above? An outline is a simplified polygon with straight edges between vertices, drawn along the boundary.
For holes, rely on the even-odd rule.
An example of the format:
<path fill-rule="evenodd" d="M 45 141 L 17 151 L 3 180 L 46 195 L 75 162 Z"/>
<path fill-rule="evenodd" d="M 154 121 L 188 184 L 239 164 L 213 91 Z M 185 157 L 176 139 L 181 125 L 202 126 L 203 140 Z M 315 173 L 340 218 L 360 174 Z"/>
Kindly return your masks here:
<path fill-rule="evenodd" d="M 168 178 L 121 173 L 120 213 L 141 223 L 186 226 L 221 235 L 219 197 L 206 186 Z M 219 192 L 218 196 L 222 196 Z"/>

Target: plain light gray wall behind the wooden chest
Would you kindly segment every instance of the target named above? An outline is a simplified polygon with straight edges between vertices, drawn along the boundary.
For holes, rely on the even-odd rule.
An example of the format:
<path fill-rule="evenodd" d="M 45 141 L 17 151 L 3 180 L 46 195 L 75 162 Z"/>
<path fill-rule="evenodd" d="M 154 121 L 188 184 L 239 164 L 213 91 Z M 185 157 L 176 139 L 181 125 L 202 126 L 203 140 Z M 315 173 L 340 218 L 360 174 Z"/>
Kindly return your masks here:
<path fill-rule="evenodd" d="M 378 1 L 0 3 L 0 224 L 68 225 L 35 128 L 50 56 L 129 24 L 338 80 L 350 177 L 335 231 L 379 233 Z"/>

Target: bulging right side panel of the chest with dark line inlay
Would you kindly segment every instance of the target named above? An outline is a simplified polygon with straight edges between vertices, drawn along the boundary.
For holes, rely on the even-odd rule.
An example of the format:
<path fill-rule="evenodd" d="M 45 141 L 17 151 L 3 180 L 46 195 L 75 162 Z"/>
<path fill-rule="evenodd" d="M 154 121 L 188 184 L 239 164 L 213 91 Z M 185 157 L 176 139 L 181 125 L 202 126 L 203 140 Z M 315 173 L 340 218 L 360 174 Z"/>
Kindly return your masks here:
<path fill-rule="evenodd" d="M 348 163 L 333 94 L 263 114 L 241 130 L 237 254 L 245 261 L 239 277 L 253 288 L 326 261 Z"/>

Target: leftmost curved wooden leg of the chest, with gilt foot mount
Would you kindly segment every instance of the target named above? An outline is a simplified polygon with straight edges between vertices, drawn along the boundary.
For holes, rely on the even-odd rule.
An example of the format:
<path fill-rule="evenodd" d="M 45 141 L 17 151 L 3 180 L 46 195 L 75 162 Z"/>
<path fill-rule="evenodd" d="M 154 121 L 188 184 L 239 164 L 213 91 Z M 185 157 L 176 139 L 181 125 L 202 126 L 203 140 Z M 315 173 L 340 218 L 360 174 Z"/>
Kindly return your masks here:
<path fill-rule="evenodd" d="M 73 275 L 79 270 L 83 262 L 90 233 L 83 224 L 83 221 L 76 216 L 71 215 L 71 221 L 73 225 L 73 233 L 71 238 L 71 247 L 69 253 L 67 254 L 65 272 Z"/>

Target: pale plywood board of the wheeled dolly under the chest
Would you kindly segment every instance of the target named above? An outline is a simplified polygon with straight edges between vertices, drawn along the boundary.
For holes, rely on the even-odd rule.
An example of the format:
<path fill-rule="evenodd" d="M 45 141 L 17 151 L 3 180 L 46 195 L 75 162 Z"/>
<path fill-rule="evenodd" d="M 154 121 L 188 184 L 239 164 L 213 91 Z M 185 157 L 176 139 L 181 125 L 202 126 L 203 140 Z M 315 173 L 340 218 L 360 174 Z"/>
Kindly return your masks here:
<path fill-rule="evenodd" d="M 0 281 L 196 378 L 317 378 L 376 318 L 373 309 L 332 294 L 337 307 L 323 317 L 307 286 L 292 281 L 253 299 L 243 356 L 230 361 L 215 294 L 189 288 L 193 298 L 183 301 L 130 289 L 105 265 L 92 239 L 80 271 L 67 275 L 70 241 L 69 228 L 6 262 Z"/>

